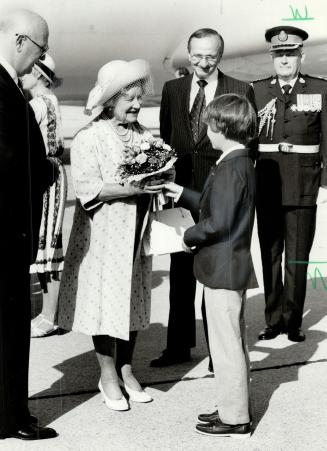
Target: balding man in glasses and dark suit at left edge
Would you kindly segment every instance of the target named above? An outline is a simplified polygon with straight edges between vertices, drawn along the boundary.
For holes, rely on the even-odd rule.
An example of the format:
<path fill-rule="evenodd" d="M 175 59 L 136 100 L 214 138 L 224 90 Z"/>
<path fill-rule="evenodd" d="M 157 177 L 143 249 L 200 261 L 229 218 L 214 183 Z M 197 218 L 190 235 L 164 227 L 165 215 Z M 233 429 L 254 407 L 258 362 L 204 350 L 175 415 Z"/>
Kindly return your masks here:
<path fill-rule="evenodd" d="M 18 77 L 47 51 L 48 26 L 27 10 L 0 20 L 0 438 L 55 437 L 28 410 L 29 266 L 36 257 L 43 191 L 54 180 Z"/>

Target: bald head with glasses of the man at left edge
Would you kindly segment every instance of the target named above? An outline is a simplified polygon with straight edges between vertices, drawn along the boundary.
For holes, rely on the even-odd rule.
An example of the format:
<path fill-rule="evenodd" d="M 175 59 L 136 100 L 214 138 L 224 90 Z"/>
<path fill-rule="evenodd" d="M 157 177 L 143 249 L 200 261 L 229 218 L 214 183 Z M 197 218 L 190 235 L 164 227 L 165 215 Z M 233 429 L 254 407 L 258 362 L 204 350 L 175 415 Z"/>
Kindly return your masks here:
<path fill-rule="evenodd" d="M 0 54 L 18 76 L 29 73 L 48 45 L 49 29 L 39 14 L 15 9 L 0 20 Z"/>

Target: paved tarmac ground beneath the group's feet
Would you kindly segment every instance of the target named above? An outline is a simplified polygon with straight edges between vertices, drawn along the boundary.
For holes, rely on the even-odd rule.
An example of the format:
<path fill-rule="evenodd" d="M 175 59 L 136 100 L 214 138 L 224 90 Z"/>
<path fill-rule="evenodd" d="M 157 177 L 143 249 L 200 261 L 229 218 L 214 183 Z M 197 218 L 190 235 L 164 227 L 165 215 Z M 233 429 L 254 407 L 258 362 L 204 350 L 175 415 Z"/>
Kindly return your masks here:
<path fill-rule="evenodd" d="M 70 184 L 65 243 L 73 210 Z M 323 204 L 318 209 L 312 261 L 327 261 L 326 226 L 327 204 Z M 165 347 L 169 257 L 163 256 L 154 259 L 151 326 L 139 334 L 134 358 L 135 373 L 154 401 L 132 403 L 128 412 L 107 409 L 97 389 L 99 368 L 90 337 L 71 332 L 32 339 L 31 412 L 43 425 L 54 427 L 59 437 L 40 442 L 7 439 L 1 441 L 1 451 L 327 450 L 327 264 L 310 265 L 312 277 L 318 268 L 322 279 L 308 280 L 303 321 L 306 341 L 296 344 L 280 335 L 275 340 L 258 342 L 257 333 L 264 325 L 264 299 L 256 231 L 253 254 L 260 288 L 248 292 L 246 312 L 254 416 L 250 439 L 206 437 L 194 430 L 197 415 L 215 406 L 214 380 L 207 371 L 200 287 L 196 301 L 197 347 L 192 361 L 164 369 L 149 367 L 150 360 Z M 40 309 L 40 296 L 37 285 L 32 288 L 35 315 Z"/>

